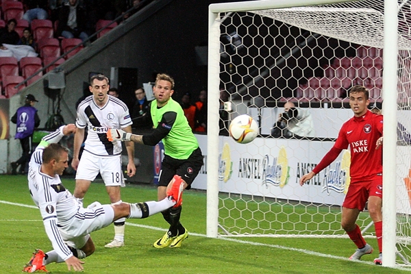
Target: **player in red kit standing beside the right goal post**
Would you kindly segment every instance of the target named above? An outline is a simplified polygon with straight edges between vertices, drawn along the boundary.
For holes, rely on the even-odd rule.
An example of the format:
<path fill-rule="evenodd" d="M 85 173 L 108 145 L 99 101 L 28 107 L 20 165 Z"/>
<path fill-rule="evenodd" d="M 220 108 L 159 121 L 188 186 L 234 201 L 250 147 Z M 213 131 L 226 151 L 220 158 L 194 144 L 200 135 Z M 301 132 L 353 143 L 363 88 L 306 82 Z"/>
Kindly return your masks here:
<path fill-rule="evenodd" d="M 349 259 L 360 260 L 361 256 L 373 252 L 373 247 L 366 243 L 360 227 L 356 224 L 358 214 L 364 210 L 368 201 L 379 247 L 379 257 L 374 263 L 382 264 L 382 149 L 379 149 L 382 145 L 382 115 L 368 110 L 369 103 L 369 90 L 364 86 L 353 86 L 349 90 L 349 105 L 354 112 L 353 118 L 341 127 L 334 147 L 310 173 L 301 177 L 299 183 L 302 186 L 312 179 L 334 162 L 343 149 L 350 147 L 351 183 L 343 202 L 341 226 L 358 249 Z"/>

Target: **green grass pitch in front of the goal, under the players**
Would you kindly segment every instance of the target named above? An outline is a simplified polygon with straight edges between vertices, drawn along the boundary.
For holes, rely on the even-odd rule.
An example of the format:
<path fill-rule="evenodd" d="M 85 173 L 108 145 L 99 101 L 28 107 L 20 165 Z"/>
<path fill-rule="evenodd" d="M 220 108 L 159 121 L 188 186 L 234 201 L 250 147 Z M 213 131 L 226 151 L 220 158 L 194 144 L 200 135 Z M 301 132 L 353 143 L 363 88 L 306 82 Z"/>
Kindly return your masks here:
<path fill-rule="evenodd" d="M 73 192 L 74 179 L 62 182 Z M 123 201 L 156 197 L 153 186 L 122 188 Z M 90 187 L 84 204 L 93 201 L 109 203 L 103 184 Z M 40 212 L 33 206 L 26 177 L 0 175 L 0 274 L 21 273 L 34 249 L 51 249 Z M 409 273 L 405 268 L 373 265 L 377 251 L 362 262 L 350 262 L 347 258 L 356 247 L 344 238 L 206 238 L 206 193 L 202 191 L 184 192 L 181 221 L 190 236 L 179 249 L 152 246 L 167 228 L 161 214 L 127 220 L 125 247 L 120 249 L 104 247 L 114 236 L 112 225 L 93 232 L 96 251 L 84 259 L 84 273 Z M 368 241 L 377 249 L 375 239 Z M 49 264 L 47 269 L 69 272 L 64 263 Z"/>

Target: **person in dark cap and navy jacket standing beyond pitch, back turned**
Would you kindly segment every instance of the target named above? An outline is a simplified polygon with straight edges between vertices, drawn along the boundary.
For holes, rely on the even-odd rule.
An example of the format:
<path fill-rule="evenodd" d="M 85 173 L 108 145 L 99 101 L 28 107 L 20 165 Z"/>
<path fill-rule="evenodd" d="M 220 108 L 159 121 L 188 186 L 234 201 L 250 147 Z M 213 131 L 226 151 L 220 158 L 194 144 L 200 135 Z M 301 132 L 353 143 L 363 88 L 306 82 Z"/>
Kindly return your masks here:
<path fill-rule="evenodd" d="M 12 123 L 16 124 L 16 136 L 20 140 L 23 154 L 16 161 L 12 162 L 12 175 L 17 174 L 17 167 L 20 166 L 20 173 L 25 173 L 26 165 L 29 163 L 30 155 L 33 152 L 32 139 L 34 128 L 40 125 L 40 118 L 34 104 L 38 102 L 34 95 L 26 95 L 25 105 L 18 108 L 12 116 Z"/>

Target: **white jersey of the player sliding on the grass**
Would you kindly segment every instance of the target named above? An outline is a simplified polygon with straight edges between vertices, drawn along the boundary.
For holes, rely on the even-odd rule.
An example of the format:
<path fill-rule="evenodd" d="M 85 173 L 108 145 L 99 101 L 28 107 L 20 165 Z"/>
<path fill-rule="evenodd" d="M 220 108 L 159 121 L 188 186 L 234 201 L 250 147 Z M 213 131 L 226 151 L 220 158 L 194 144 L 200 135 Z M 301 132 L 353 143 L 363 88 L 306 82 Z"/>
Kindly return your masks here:
<path fill-rule="evenodd" d="M 53 249 L 58 253 L 58 256 L 66 260 L 73 253 L 71 253 L 60 232 L 58 232 L 58 225 L 64 225 L 66 221 L 69 222 L 81 205 L 71 195 L 71 192 L 64 188 L 59 175 L 50 177 L 41 172 L 43 149 L 44 147 L 39 145 L 29 162 L 27 176 L 29 190 L 34 203 L 40 209 L 43 224 Z"/>

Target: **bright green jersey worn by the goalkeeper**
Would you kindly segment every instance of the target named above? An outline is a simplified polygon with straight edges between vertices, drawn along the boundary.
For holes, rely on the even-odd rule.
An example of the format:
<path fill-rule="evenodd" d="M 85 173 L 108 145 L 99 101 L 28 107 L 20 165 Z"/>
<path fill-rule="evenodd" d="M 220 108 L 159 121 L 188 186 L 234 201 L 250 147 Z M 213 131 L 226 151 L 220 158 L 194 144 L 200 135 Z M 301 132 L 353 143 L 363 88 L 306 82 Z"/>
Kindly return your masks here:
<path fill-rule="evenodd" d="M 171 130 L 166 137 L 162 139 L 164 143 L 164 154 L 169 155 L 172 158 L 179 160 L 186 160 L 192 153 L 199 147 L 199 142 L 192 134 L 192 129 L 188 125 L 186 116 L 184 116 L 184 111 L 177 103 L 170 97 L 169 101 L 162 108 L 157 108 L 157 103 L 155 101 L 151 102 L 151 119 L 153 120 L 153 125 L 158 126 L 162 122 L 163 115 L 166 112 L 175 112 L 177 114 L 175 121 L 171 126 Z M 162 127 L 167 127 L 168 125 L 162 125 Z"/>

